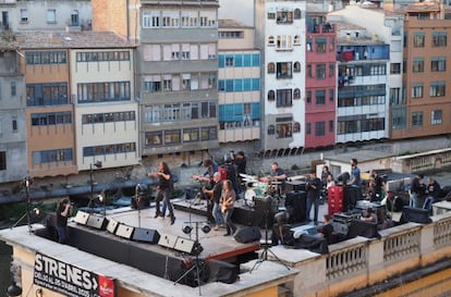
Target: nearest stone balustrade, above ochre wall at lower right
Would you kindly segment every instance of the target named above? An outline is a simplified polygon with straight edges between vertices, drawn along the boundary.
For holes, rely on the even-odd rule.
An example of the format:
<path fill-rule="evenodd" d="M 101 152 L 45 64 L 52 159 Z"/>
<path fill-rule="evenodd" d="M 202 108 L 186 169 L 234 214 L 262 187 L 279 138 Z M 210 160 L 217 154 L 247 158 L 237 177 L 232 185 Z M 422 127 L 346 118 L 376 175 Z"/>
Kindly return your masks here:
<path fill-rule="evenodd" d="M 431 219 L 430 224 L 406 223 L 380 231 L 380 238 L 357 236 L 330 245 L 329 252 L 321 256 L 275 248 L 284 262 L 300 271 L 293 284 L 294 296 L 338 296 L 449 258 L 451 212 Z M 309 275 L 312 268 L 315 277 Z"/>

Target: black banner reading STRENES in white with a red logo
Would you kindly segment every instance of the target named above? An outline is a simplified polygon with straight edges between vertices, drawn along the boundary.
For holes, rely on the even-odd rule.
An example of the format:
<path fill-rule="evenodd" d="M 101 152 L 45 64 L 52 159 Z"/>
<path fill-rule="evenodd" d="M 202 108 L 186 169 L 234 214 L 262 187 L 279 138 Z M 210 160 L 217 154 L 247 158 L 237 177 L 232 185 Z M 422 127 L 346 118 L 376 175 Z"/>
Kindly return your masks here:
<path fill-rule="evenodd" d="M 114 297 L 114 280 L 36 253 L 34 284 L 70 297 Z"/>

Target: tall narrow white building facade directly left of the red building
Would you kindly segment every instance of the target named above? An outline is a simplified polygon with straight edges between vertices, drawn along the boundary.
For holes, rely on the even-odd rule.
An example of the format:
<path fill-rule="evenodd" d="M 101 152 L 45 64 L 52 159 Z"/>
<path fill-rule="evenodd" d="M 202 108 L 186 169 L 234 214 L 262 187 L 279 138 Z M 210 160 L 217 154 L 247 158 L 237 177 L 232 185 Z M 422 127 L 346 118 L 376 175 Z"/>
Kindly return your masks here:
<path fill-rule="evenodd" d="M 256 1 L 265 151 L 305 144 L 305 1 Z"/>

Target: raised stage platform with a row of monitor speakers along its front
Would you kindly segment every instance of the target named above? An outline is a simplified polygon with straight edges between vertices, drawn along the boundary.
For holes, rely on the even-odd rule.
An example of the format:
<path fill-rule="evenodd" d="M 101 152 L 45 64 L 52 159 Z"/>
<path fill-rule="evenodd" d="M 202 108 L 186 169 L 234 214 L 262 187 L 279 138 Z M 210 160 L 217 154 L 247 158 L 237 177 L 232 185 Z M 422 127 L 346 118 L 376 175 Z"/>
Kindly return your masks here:
<path fill-rule="evenodd" d="M 224 228 L 215 231 L 212 226 L 210 232 L 204 233 L 207 216 L 199 213 L 203 213 L 204 208 L 204 213 L 207 213 L 206 201 L 200 200 L 200 205 L 196 206 L 193 203 L 194 200 L 178 198 L 171 201 L 176 218 L 173 225 L 170 218 L 154 218 L 155 207 L 141 210 L 125 207 L 107 211 L 106 216 L 78 211 L 80 213 L 68 223 L 68 245 L 193 286 L 197 284 L 191 284 L 193 275 L 186 273 L 193 263 L 202 263 L 207 268 L 207 275 L 202 275 L 204 282 L 221 282 L 221 279 L 223 282 L 234 282 L 240 264 L 257 258 L 255 251 L 260 249 L 259 239 L 239 243 L 234 236 L 223 236 Z M 181 210 L 183 206 L 185 209 Z M 51 224 L 48 223 L 49 225 Z M 193 227 L 190 234 L 183 232 L 186 225 Z M 240 232 L 243 226 L 237 226 Z M 36 232 L 37 235 L 39 233 Z M 196 233 L 200 248 L 196 247 Z M 46 236 L 44 232 L 41 235 Z M 229 272 L 219 273 L 221 270 Z"/>

